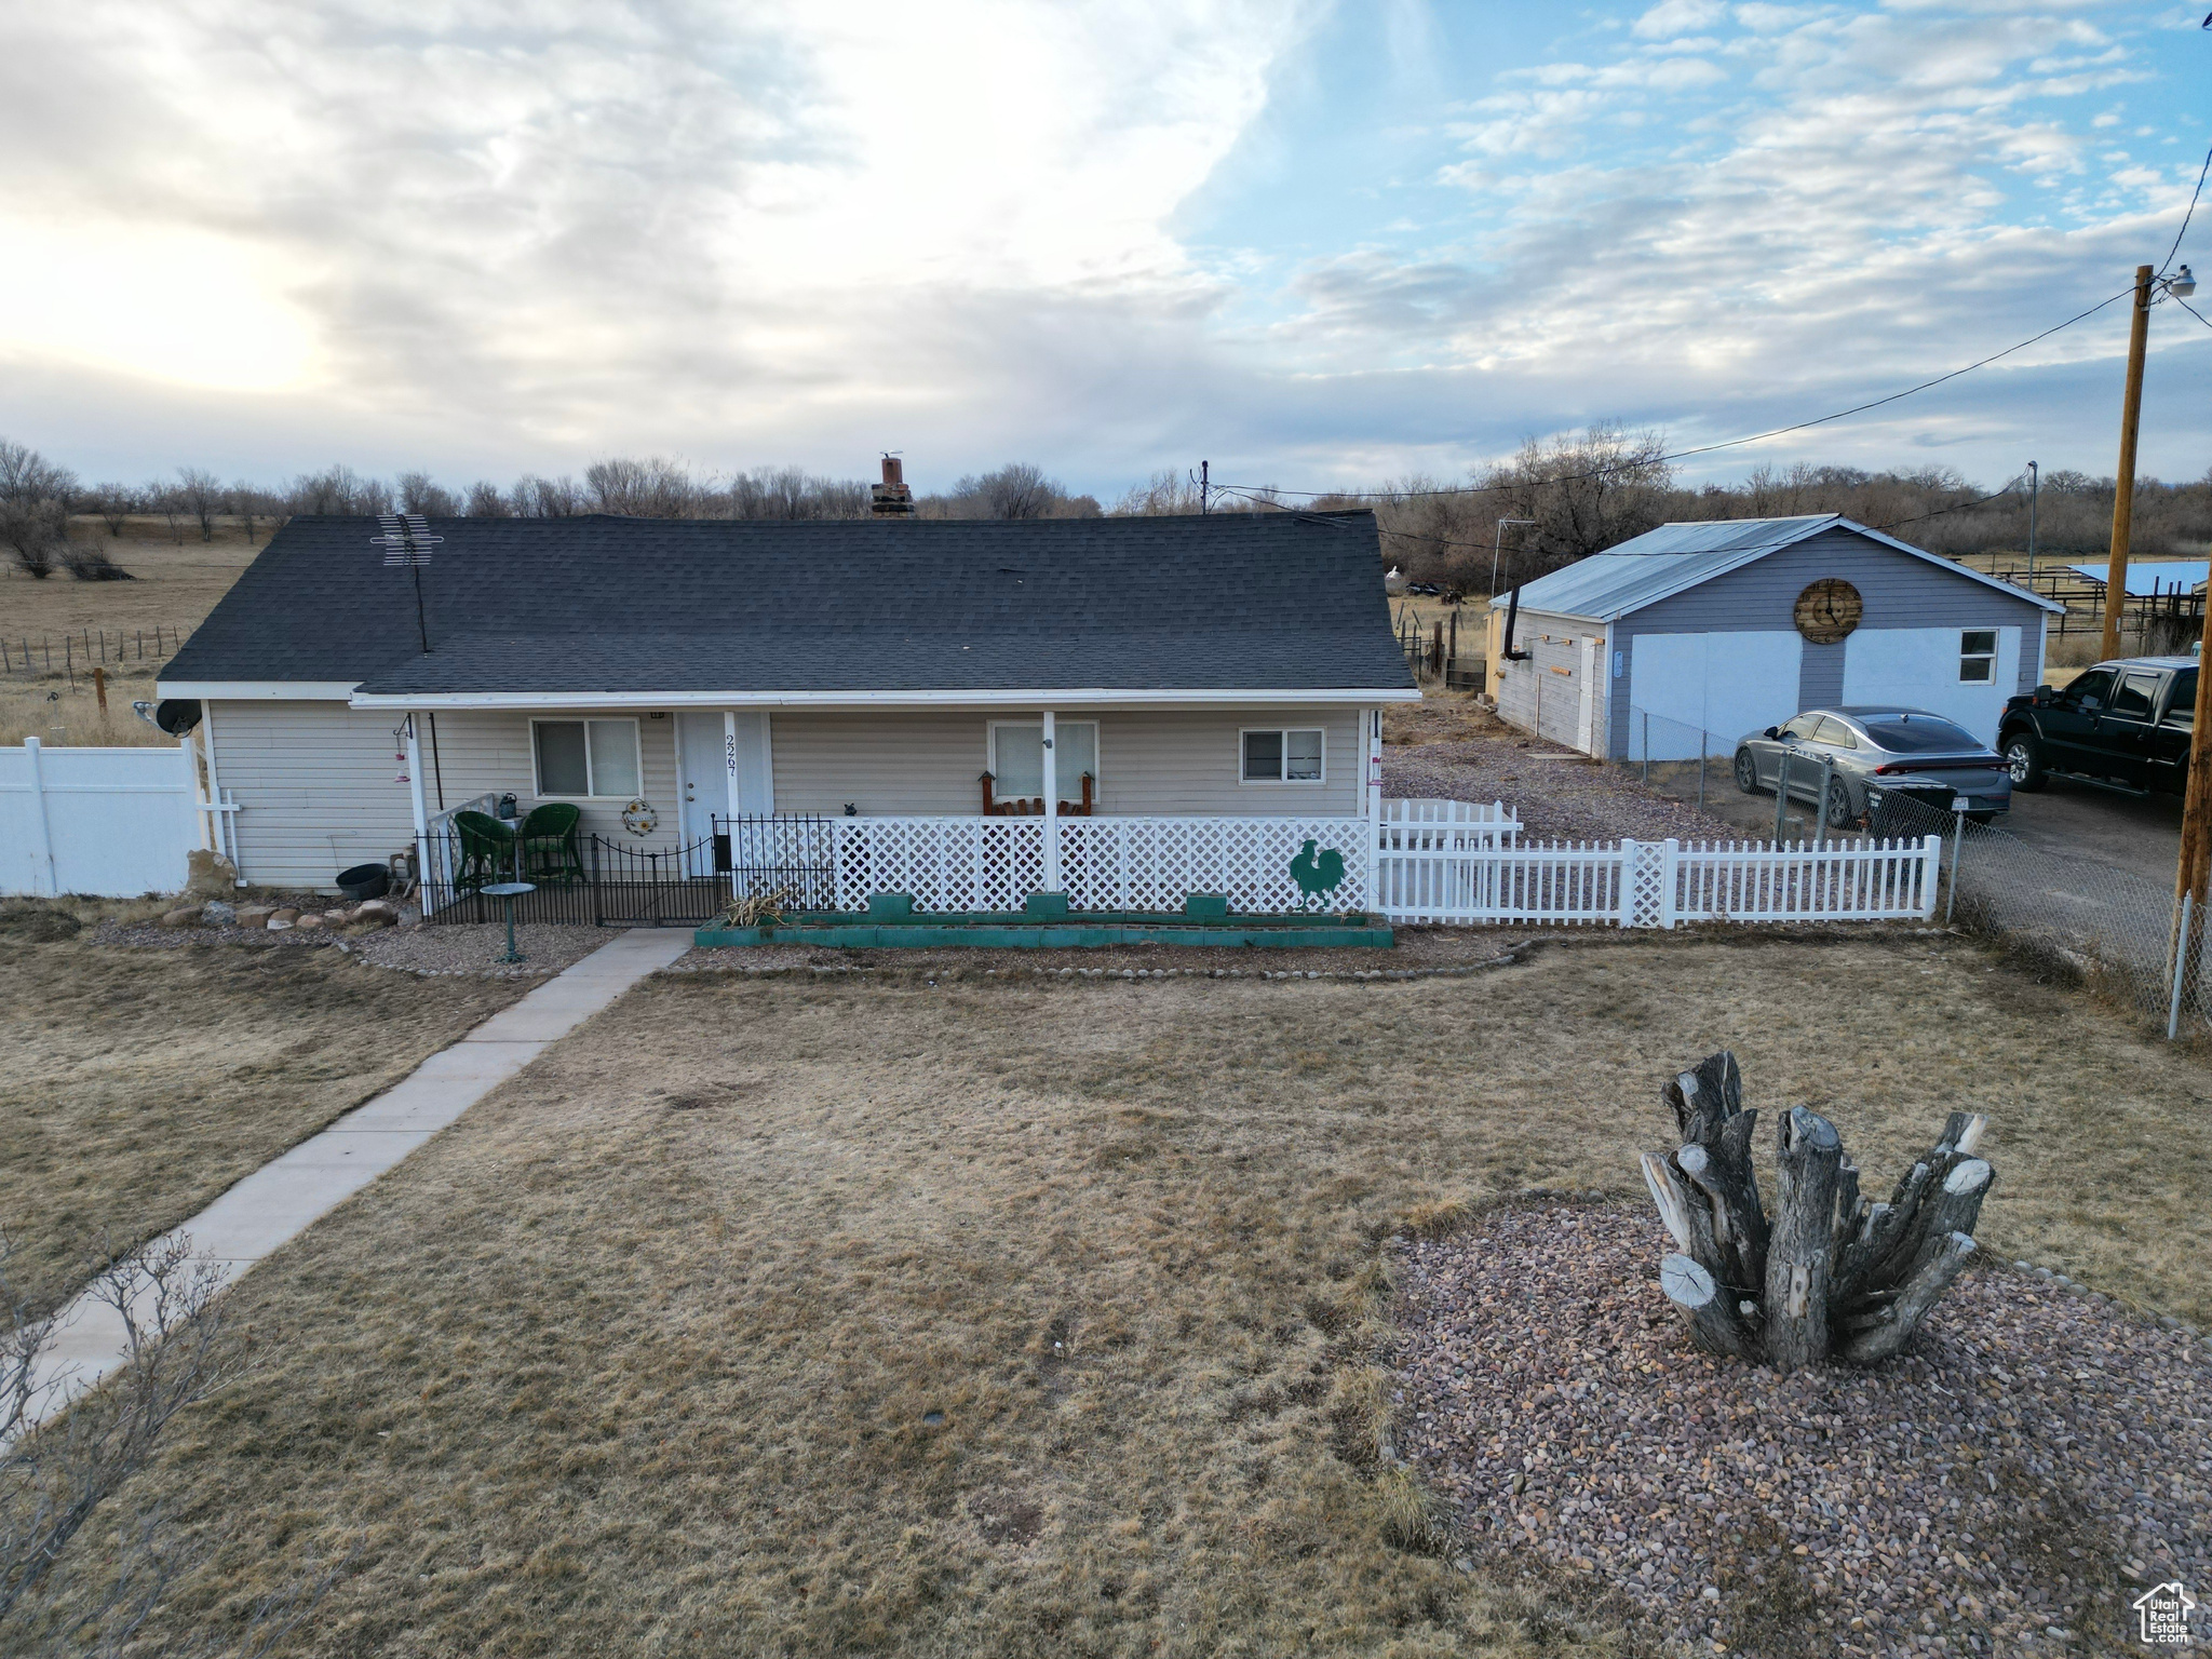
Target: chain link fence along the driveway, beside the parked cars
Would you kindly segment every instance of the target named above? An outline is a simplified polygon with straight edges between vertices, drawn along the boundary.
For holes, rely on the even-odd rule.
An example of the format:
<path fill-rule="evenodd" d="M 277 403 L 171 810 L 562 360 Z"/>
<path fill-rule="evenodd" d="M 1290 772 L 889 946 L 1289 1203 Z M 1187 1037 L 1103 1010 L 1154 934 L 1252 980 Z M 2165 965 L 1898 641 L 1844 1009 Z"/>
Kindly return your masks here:
<path fill-rule="evenodd" d="M 1798 761 L 1787 792 L 1745 792 L 1734 776 L 1743 732 L 1703 732 L 1639 708 L 1628 714 L 1626 759 L 1639 783 L 1712 816 L 1734 834 L 1778 843 L 1845 843 L 1869 836 L 1942 836 L 1938 918 L 2000 940 L 2044 971 L 2081 980 L 2174 1035 L 2212 1035 L 2212 916 L 2188 916 L 2183 938 L 2172 883 L 2132 869 L 2033 847 L 1993 823 L 1922 801 L 1887 796 L 1880 821 L 1847 790 Z M 1829 812 L 1816 810 L 1827 799 Z"/>

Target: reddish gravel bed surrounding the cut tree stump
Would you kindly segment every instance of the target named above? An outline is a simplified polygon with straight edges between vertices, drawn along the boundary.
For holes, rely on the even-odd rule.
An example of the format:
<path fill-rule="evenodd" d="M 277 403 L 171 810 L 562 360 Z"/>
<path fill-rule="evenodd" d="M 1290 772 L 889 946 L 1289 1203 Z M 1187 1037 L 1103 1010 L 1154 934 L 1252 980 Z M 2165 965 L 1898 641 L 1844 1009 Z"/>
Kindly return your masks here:
<path fill-rule="evenodd" d="M 1761 1659 L 2141 1650 L 2143 1588 L 2212 1582 L 2199 1334 L 1989 1265 L 1898 1360 L 1776 1376 L 1690 1347 L 1666 1248 L 1557 1201 L 1402 1248 L 1400 1447 L 1469 1557 Z"/>

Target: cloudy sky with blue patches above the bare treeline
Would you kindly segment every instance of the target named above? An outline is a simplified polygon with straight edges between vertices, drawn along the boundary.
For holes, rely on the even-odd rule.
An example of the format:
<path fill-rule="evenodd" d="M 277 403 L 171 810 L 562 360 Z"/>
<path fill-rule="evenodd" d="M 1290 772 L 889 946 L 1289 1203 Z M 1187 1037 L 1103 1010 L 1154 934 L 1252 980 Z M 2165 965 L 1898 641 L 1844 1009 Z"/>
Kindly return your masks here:
<path fill-rule="evenodd" d="M 0 434 L 88 478 L 900 449 L 1108 498 L 1710 442 L 2163 261 L 2203 4 L 15 4 Z M 1692 476 L 2108 473 L 2124 349 L 2121 303 Z M 2205 471 L 2208 392 L 2159 307 L 2146 471 Z"/>

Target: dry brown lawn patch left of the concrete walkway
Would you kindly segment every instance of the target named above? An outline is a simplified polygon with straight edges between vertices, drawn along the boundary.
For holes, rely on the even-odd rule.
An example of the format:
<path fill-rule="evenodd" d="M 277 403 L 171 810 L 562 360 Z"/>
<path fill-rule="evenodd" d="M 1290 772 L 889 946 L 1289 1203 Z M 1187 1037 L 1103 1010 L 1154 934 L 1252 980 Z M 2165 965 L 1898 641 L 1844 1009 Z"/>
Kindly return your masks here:
<path fill-rule="evenodd" d="M 51 1298 L 102 1241 L 184 1221 L 526 989 L 334 949 L 148 951 L 0 927 L 11 1274 Z"/>

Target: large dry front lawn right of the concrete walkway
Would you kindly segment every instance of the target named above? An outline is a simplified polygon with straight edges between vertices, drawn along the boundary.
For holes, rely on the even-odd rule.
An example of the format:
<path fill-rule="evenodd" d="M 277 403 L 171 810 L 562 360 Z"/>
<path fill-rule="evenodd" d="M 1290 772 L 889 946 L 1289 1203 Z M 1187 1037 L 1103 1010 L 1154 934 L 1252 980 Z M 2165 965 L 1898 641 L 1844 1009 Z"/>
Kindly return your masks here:
<path fill-rule="evenodd" d="M 1869 1183 L 1991 1113 L 1993 1250 L 2212 1318 L 2205 1073 L 1960 940 L 670 973 L 248 1276 L 259 1369 L 115 1511 L 208 1548 L 170 1632 L 343 1559 L 316 1655 L 1648 1652 L 1422 1548 L 1369 1358 L 1396 1230 L 1644 1203 L 1721 1044 Z"/>

